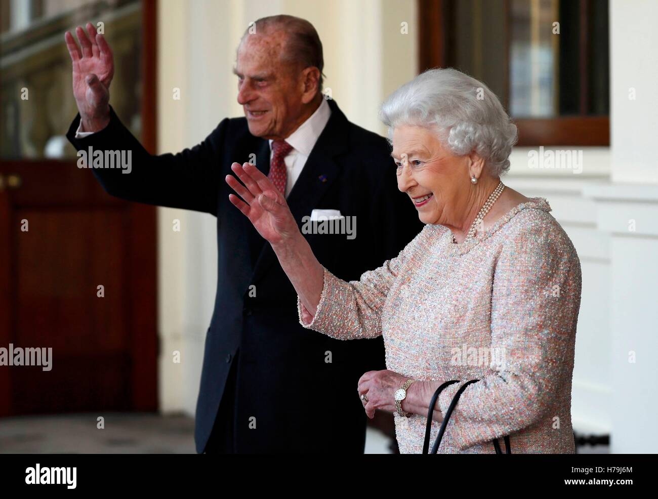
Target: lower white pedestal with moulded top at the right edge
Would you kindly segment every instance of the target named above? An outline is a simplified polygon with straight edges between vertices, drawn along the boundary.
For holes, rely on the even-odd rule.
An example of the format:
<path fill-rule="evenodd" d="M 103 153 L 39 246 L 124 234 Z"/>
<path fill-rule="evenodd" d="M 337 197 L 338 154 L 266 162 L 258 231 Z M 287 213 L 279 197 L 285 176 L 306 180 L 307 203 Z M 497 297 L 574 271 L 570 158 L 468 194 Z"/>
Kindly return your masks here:
<path fill-rule="evenodd" d="M 610 236 L 611 452 L 655 452 L 658 390 L 658 186 L 588 187 Z"/>

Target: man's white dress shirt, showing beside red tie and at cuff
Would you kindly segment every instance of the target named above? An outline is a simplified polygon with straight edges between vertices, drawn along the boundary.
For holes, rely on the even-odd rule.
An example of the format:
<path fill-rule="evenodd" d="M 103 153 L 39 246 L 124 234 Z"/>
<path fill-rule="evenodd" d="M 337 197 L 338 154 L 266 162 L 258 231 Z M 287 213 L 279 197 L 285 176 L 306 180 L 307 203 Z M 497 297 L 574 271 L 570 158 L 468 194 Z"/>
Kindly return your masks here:
<path fill-rule="evenodd" d="M 313 146 L 318 142 L 318 138 L 324 130 L 329 117 L 331 115 L 331 108 L 329 107 L 326 99 L 322 99 L 322 103 L 315 113 L 311 115 L 305 122 L 299 125 L 299 128 L 292 132 L 286 142 L 292 146 L 292 150 L 284 159 L 286 163 L 286 197 L 290 194 L 299 174 L 306 165 L 306 160 L 309 159 Z M 76 139 L 80 139 L 93 134 L 94 132 L 81 132 L 82 122 L 76 131 Z M 272 140 L 270 140 L 270 161 L 272 161 Z"/>

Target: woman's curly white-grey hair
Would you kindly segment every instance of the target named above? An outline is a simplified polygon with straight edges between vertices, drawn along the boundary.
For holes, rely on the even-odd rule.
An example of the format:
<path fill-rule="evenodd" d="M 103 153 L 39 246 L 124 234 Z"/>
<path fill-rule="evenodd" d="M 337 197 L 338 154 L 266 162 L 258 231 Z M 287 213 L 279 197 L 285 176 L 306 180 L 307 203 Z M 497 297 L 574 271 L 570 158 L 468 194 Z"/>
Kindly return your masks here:
<path fill-rule="evenodd" d="M 397 126 L 436 129 L 453 154 L 476 151 L 494 176 L 509 170 L 517 143 L 517 126 L 495 93 L 453 68 L 427 70 L 395 90 L 382 104 L 380 118 L 389 127 L 389 139 Z"/>

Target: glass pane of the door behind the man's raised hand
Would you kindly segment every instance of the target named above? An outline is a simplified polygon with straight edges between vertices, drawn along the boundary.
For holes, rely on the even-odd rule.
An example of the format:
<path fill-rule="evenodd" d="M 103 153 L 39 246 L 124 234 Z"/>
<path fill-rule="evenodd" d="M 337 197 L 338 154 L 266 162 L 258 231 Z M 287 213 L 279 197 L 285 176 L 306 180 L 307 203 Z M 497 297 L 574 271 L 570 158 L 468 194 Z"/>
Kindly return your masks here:
<path fill-rule="evenodd" d="M 114 53 L 111 104 L 141 138 L 140 0 L 2 0 L 0 157 L 75 158 L 64 134 L 78 109 L 64 32 L 103 23 Z"/>

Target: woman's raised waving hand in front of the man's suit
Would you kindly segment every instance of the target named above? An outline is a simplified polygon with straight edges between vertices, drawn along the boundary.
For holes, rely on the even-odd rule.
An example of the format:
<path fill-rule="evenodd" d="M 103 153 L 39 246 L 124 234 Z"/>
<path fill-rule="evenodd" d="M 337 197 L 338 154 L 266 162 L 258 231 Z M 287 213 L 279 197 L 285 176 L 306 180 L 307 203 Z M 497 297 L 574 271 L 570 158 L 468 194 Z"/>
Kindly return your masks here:
<path fill-rule="evenodd" d="M 275 246 L 299 234 L 286 198 L 263 172 L 251 163 L 242 166 L 233 163 L 231 169 L 244 185 L 234 176 L 226 175 L 226 183 L 240 196 L 229 194 L 228 199 L 244 213 L 263 238 Z"/>

